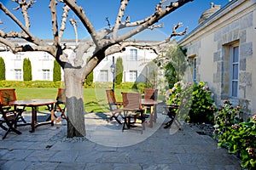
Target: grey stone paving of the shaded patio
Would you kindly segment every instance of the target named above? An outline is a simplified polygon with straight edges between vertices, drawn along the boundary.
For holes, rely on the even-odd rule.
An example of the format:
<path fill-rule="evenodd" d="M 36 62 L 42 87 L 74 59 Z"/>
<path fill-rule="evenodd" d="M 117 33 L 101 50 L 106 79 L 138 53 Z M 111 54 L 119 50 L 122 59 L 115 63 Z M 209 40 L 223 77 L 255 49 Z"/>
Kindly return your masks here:
<path fill-rule="evenodd" d="M 196 133 L 199 129 L 190 124 L 180 130 L 164 129 L 166 116 L 159 114 L 154 127 L 146 126 L 143 133 L 122 132 L 122 126 L 103 116 L 85 115 L 86 138 L 67 139 L 65 120 L 54 127 L 38 127 L 34 133 L 29 133 L 30 127 L 18 127 L 22 134 L 0 139 L 0 169 L 241 169 L 236 156 L 218 148 L 212 137 Z M 0 136 L 3 133 L 0 129 Z"/>

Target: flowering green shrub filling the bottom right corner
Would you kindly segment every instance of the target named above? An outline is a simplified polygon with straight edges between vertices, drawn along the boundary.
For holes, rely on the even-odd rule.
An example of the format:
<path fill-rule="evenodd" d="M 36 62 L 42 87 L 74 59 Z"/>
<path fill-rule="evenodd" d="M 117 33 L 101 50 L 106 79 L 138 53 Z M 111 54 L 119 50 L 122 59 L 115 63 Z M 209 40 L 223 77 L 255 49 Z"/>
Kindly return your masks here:
<path fill-rule="evenodd" d="M 241 167 L 256 167 L 256 114 L 249 122 L 241 122 L 238 117 L 240 107 L 232 107 L 229 100 L 218 111 L 214 138 L 218 146 L 227 148 L 241 159 Z"/>

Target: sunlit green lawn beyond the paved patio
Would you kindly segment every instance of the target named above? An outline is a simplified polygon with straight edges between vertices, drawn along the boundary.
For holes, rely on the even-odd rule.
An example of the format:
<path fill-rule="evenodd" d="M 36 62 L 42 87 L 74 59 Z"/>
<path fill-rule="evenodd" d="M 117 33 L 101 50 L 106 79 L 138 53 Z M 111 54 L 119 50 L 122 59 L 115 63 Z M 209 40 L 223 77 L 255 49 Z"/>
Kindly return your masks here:
<path fill-rule="evenodd" d="M 57 88 L 15 88 L 17 99 L 55 99 Z M 84 108 L 86 112 L 108 112 L 106 88 L 84 88 Z M 115 89 L 116 98 L 121 101 L 121 92 L 128 89 Z M 29 111 L 29 108 L 26 110 Z M 42 109 L 41 109 L 42 110 Z"/>

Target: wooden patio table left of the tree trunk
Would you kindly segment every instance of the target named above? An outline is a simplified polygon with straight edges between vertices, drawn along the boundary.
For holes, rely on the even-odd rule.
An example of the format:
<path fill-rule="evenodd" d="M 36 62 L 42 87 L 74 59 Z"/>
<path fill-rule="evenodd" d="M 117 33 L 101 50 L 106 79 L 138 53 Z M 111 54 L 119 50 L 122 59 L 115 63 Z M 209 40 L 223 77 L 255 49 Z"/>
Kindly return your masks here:
<path fill-rule="evenodd" d="M 25 110 L 26 107 L 32 108 L 32 122 L 31 122 L 31 133 L 35 131 L 35 128 L 44 125 L 44 124 L 51 124 L 51 126 L 54 126 L 54 104 L 56 100 L 55 99 L 28 99 L 28 100 L 15 100 L 9 102 L 9 105 L 16 106 L 23 106 L 23 110 Z M 50 105 L 51 111 L 50 111 L 50 121 L 47 122 L 38 122 L 37 121 L 37 113 L 38 113 L 38 106 L 43 105 Z"/>

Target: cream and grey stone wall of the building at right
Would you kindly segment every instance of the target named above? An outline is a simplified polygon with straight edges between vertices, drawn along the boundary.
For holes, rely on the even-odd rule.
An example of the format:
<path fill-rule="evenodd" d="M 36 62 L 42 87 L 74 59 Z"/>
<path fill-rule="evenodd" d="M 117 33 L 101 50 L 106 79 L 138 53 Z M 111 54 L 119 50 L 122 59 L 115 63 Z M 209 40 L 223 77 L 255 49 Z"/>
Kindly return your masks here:
<path fill-rule="evenodd" d="M 256 112 L 255 4 L 233 0 L 178 42 L 188 48 L 188 57 L 196 57 L 197 82 L 208 83 L 216 105 L 230 99 L 247 116 Z M 230 97 L 230 47 L 234 45 L 239 47 L 237 98 Z"/>

